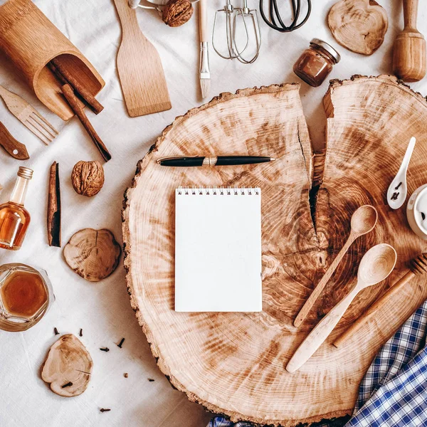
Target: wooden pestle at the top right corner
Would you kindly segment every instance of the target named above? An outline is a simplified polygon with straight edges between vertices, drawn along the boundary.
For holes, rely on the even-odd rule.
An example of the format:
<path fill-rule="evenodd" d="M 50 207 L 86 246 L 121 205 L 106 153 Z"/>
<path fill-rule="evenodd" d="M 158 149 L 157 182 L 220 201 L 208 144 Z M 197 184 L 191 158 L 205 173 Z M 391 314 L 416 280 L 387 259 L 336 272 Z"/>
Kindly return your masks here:
<path fill-rule="evenodd" d="M 393 73 L 405 82 L 418 82 L 426 75 L 426 41 L 416 29 L 418 0 L 404 0 L 404 31 L 393 48 Z"/>

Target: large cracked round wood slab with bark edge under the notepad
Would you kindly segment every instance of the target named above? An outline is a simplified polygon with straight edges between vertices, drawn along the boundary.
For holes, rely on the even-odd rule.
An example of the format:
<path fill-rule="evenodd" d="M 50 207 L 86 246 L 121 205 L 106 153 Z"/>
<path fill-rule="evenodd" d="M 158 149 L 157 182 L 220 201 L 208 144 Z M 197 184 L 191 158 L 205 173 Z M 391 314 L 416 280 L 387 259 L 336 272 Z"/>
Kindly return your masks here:
<path fill-rule="evenodd" d="M 407 142 L 417 146 L 409 192 L 427 182 L 427 103 L 395 78 L 334 81 L 325 96 L 327 154 L 310 215 L 312 152 L 299 85 L 224 93 L 167 127 L 142 161 L 125 195 L 125 268 L 132 307 L 159 368 L 191 401 L 234 421 L 294 426 L 351 413 L 359 381 L 384 339 L 427 297 L 423 278 L 342 348 L 332 340 L 404 273 L 426 248 L 405 211 L 385 196 Z M 172 155 L 249 154 L 270 164 L 165 168 Z M 322 158 L 322 157 L 320 157 Z M 317 168 L 318 169 L 318 168 Z M 177 186 L 260 186 L 263 211 L 263 312 L 174 312 L 174 189 Z M 349 233 L 362 204 L 379 211 L 375 231 L 344 257 L 300 329 L 292 321 Z M 330 338 L 297 372 L 285 366 L 311 328 L 355 283 L 362 255 L 375 243 L 396 248 L 398 265 L 381 285 L 357 297 Z M 203 285 L 203 278 L 201 278 Z"/>

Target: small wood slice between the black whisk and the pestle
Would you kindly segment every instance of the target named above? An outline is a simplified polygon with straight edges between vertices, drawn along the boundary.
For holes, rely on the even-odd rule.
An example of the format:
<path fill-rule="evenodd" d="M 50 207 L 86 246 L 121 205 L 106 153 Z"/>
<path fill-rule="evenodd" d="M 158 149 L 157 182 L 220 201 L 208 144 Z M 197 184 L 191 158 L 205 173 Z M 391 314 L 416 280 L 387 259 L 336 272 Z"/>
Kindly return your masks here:
<path fill-rule="evenodd" d="M 341 46 L 363 55 L 371 55 L 381 46 L 389 28 L 386 11 L 375 0 L 338 1 L 327 23 Z"/>

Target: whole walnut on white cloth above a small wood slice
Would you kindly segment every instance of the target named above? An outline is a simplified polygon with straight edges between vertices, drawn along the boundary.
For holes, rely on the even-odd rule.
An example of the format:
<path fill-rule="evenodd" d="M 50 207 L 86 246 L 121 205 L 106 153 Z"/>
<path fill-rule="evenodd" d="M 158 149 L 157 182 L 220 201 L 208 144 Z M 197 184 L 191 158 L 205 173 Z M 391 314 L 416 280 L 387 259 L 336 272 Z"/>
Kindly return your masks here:
<path fill-rule="evenodd" d="M 71 173 L 71 182 L 77 194 L 92 197 L 100 192 L 104 185 L 104 169 L 100 162 L 76 163 Z"/>

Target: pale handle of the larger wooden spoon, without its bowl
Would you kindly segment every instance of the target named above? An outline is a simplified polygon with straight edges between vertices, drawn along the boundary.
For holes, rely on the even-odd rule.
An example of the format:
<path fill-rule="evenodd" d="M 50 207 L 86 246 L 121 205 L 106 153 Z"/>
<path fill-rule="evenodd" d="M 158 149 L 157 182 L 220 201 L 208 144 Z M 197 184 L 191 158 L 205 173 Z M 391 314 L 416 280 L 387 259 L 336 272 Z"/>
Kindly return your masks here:
<path fill-rule="evenodd" d="M 297 369 L 300 369 L 300 367 L 302 367 L 310 357 L 312 357 L 325 339 L 327 339 L 332 330 L 334 330 L 334 327 L 337 326 L 337 323 L 341 319 L 342 315 L 344 315 L 344 312 L 352 303 L 352 300 L 354 300 L 354 297 L 360 289 L 361 287 L 356 285 L 347 297 L 335 305 L 335 307 L 332 308 L 332 310 L 327 313 L 322 320 L 320 320 L 315 329 L 308 334 L 307 338 L 305 338 L 302 344 L 300 344 L 300 347 L 297 348 L 297 351 L 291 357 L 288 365 L 286 366 L 287 371 L 295 372 Z"/>

